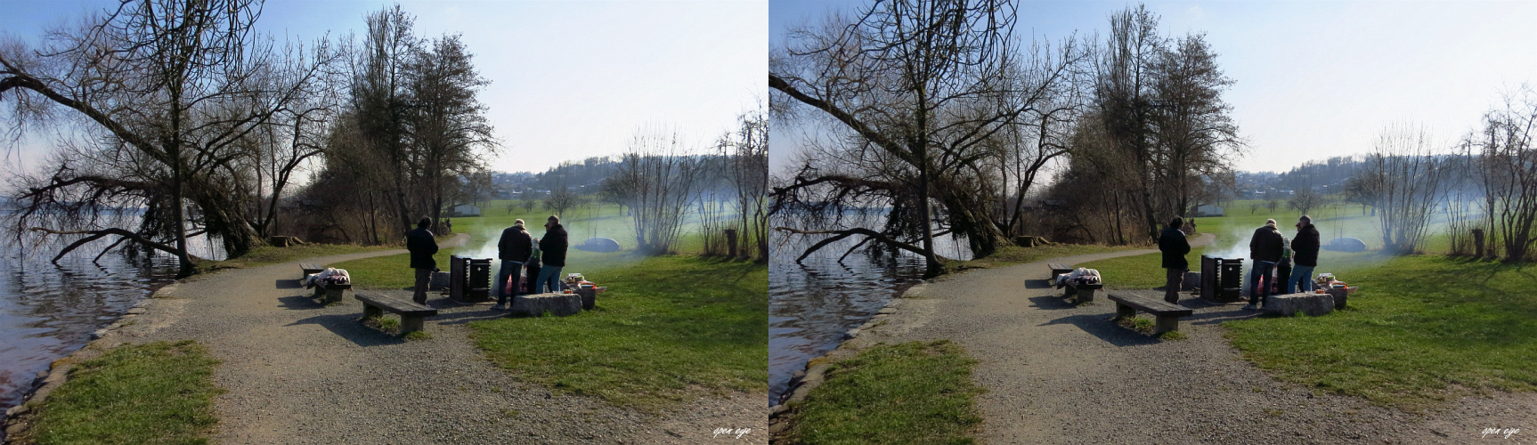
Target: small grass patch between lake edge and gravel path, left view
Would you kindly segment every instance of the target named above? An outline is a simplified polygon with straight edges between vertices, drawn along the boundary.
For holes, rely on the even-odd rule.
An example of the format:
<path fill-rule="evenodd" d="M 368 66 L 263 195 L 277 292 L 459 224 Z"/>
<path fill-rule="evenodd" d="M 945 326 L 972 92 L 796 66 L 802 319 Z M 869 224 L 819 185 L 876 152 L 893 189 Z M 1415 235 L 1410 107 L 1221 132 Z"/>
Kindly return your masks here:
<path fill-rule="evenodd" d="M 123 345 L 77 365 L 35 408 L 37 443 L 207 443 L 218 361 L 192 341 Z"/>

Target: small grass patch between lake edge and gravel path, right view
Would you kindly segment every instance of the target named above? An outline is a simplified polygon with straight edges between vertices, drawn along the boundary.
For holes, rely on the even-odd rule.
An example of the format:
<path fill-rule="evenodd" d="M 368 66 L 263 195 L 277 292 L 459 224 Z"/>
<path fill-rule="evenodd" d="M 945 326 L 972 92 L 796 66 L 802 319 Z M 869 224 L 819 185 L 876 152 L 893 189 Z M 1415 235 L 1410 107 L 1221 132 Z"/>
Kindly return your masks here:
<path fill-rule="evenodd" d="M 876 345 L 838 362 L 793 407 L 787 443 L 971 443 L 976 361 L 948 341 Z"/>

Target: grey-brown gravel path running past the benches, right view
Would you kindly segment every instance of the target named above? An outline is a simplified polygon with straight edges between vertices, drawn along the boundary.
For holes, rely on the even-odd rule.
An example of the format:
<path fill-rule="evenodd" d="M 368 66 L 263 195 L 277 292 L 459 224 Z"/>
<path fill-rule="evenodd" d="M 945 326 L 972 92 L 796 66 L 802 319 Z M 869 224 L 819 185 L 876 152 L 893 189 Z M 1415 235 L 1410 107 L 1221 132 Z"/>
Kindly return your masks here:
<path fill-rule="evenodd" d="M 939 279 L 859 339 L 964 345 L 987 388 L 978 402 L 988 443 L 1466 443 L 1483 428 L 1537 427 L 1534 394 L 1465 397 L 1428 414 L 1313 394 L 1260 371 L 1223 341 L 1220 322 L 1254 316 L 1240 305 L 1187 296 L 1182 304 L 1196 310 L 1180 321 L 1188 339 L 1160 342 L 1113 324 L 1114 302 L 1104 298 L 1068 304 L 1047 275 L 1042 261 Z M 1525 443 L 1531 433 L 1512 439 Z"/>

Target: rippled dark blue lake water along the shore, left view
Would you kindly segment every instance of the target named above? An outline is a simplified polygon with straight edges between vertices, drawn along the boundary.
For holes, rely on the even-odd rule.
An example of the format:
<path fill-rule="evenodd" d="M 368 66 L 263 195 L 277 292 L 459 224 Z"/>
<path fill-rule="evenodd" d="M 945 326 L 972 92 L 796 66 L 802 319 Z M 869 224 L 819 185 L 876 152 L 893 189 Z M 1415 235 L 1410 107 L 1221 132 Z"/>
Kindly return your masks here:
<path fill-rule="evenodd" d="M 108 242 L 97 241 L 106 247 Z M 194 249 L 195 247 L 195 249 Z M 138 301 L 174 281 L 175 258 L 164 253 L 103 255 L 81 249 L 49 262 L 55 247 L 29 247 L 15 238 L 0 253 L 0 413 L 22 402 L 48 365 L 91 341 Z M 189 239 L 194 255 L 218 258 L 206 239 Z M 89 252 L 88 252 L 89 250 Z"/>

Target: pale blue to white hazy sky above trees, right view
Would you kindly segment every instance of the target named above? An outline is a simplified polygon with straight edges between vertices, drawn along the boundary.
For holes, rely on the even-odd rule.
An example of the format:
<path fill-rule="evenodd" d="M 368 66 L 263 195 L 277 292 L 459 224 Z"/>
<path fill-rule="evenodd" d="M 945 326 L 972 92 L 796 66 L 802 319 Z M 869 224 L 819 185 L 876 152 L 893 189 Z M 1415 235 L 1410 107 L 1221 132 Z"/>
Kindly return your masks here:
<path fill-rule="evenodd" d="M 770 44 L 832 8 L 770 2 Z M 1107 34 L 1131 2 L 1024 2 L 1021 32 L 1053 41 Z M 1288 170 L 1362 153 L 1382 129 L 1414 121 L 1452 141 L 1500 94 L 1537 87 L 1537 2 L 1148 2 L 1164 35 L 1205 32 L 1236 84 L 1225 94 L 1250 153 L 1240 170 Z M 799 138 L 775 127 L 776 167 Z M 775 170 L 778 172 L 778 170 Z"/>

